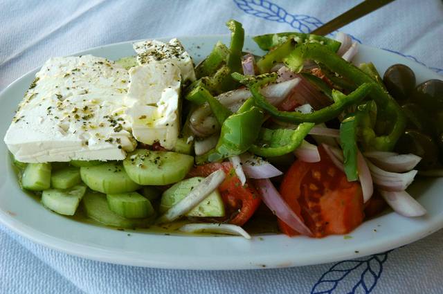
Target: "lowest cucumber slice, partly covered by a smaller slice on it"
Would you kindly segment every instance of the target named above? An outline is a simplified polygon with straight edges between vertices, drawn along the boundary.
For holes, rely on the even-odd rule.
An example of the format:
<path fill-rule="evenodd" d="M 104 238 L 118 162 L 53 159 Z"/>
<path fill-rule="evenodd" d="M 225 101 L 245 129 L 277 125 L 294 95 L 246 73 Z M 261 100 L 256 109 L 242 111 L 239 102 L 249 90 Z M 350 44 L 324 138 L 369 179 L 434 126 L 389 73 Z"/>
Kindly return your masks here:
<path fill-rule="evenodd" d="M 155 219 L 155 214 L 146 219 L 125 219 L 125 217 L 120 217 L 120 215 L 109 209 L 106 195 L 101 193 L 88 192 L 84 195 L 82 202 L 88 217 L 106 226 L 116 228 L 147 228 Z"/>

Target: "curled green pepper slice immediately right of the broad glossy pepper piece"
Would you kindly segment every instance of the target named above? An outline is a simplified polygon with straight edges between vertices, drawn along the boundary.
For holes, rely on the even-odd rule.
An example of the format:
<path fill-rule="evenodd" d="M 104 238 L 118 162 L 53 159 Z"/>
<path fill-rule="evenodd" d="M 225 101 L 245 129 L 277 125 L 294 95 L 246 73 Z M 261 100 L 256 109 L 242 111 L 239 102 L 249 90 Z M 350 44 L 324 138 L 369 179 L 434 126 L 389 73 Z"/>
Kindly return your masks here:
<path fill-rule="evenodd" d="M 258 142 L 252 145 L 249 151 L 264 157 L 288 154 L 301 145 L 314 125 L 313 122 L 303 122 L 297 129 L 262 128 Z"/>

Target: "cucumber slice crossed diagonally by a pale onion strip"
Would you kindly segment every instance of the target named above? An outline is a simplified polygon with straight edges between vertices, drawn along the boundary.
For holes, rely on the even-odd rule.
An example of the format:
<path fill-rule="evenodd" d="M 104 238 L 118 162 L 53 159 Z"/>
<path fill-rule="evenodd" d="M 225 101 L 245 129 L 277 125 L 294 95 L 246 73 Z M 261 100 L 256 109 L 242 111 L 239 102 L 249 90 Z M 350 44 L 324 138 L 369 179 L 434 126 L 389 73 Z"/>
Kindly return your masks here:
<path fill-rule="evenodd" d="M 161 196 L 160 212 L 163 214 L 173 205 L 185 198 L 201 180 L 199 176 L 195 178 L 188 178 L 181 181 L 168 190 L 163 192 Z M 221 200 L 220 193 L 215 190 L 208 197 L 206 197 L 199 205 L 190 210 L 186 214 L 187 217 L 224 217 L 224 203 Z"/>

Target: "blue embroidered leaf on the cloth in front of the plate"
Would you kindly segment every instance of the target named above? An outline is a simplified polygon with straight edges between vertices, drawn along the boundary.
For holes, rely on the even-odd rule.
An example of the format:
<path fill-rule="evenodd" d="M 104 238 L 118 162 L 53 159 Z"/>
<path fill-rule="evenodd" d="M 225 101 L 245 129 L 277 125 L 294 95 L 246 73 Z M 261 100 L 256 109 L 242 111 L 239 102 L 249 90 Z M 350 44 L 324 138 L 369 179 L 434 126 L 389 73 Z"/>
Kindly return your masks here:
<path fill-rule="evenodd" d="M 311 294 L 369 294 L 377 285 L 387 258 L 388 252 L 384 252 L 362 259 L 338 262 L 318 279 Z"/>

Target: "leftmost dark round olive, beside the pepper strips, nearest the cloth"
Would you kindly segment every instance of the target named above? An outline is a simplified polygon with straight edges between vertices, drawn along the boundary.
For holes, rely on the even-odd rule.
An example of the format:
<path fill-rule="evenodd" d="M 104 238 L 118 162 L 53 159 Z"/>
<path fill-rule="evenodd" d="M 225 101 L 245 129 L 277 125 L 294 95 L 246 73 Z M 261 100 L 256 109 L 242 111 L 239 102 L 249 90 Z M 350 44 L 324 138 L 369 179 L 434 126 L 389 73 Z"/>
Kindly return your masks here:
<path fill-rule="evenodd" d="M 415 74 L 404 64 L 394 64 L 386 70 L 383 82 L 395 100 L 403 101 L 409 98 L 415 88 Z"/>

